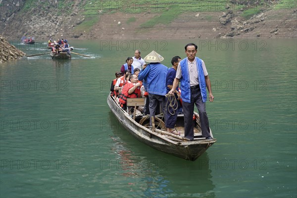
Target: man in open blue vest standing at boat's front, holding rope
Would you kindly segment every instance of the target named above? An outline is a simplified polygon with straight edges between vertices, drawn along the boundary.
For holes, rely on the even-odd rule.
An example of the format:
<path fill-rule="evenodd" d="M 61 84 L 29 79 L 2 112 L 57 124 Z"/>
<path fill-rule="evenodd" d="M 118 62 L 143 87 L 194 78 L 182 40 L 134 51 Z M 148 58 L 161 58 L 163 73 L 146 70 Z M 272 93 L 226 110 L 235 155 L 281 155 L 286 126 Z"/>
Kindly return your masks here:
<path fill-rule="evenodd" d="M 185 46 L 187 57 L 180 61 L 176 71 L 170 95 L 174 95 L 175 89 L 181 82 L 183 111 L 185 122 L 185 138 L 194 140 L 193 113 L 196 104 L 200 117 L 202 137 L 211 140 L 209 121 L 206 114 L 205 102 L 207 98 L 206 88 L 209 93 L 209 101 L 212 102 L 211 83 L 203 60 L 196 57 L 197 45 L 190 43 Z"/>

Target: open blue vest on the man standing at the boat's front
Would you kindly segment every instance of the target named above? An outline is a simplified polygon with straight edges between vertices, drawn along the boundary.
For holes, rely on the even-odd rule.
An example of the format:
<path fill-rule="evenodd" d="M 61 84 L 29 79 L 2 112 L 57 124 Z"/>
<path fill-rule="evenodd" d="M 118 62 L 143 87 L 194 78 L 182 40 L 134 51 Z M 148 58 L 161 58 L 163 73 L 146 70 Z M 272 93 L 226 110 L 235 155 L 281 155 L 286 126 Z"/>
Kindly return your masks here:
<path fill-rule="evenodd" d="M 181 60 L 180 65 L 181 65 L 181 70 L 182 70 L 182 78 L 180 79 L 182 99 L 183 99 L 183 101 L 190 103 L 191 102 L 191 88 L 190 88 L 188 58 L 184 58 L 183 60 Z M 196 65 L 197 65 L 198 82 L 199 82 L 202 101 L 206 102 L 206 98 L 207 98 L 206 83 L 205 83 L 204 72 L 203 72 L 203 68 L 202 68 L 202 61 L 198 57 L 196 57 Z"/>

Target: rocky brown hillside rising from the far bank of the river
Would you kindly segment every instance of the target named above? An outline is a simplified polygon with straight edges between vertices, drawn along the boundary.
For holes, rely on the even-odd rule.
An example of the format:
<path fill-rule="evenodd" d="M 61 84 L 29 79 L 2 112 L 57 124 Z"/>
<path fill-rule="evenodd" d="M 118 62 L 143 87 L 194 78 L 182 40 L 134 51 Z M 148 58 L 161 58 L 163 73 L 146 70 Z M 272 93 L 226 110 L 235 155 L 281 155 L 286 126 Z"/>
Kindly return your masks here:
<path fill-rule="evenodd" d="M 213 7 L 207 4 L 212 1 L 193 2 L 185 6 L 191 9 L 200 3 L 200 8 L 203 5 L 208 9 L 201 10 L 198 6 L 197 11 L 192 9 L 189 13 L 177 15 L 168 24 L 157 24 L 150 28 L 143 28 L 142 25 L 166 10 L 128 13 L 114 9 L 114 5 L 120 5 L 122 2 L 130 3 L 125 0 L 0 0 L 0 34 L 8 40 L 34 36 L 39 42 L 48 41 L 49 38 L 297 38 L 296 2 L 294 4 L 290 0 L 228 0 L 224 1 L 224 6 L 219 6 L 219 10 L 214 11 Z M 133 5 L 132 3 L 137 5 L 137 2 L 131 1 L 129 6 Z M 110 5 L 112 3 L 118 4 Z M 278 3 L 291 4 L 288 8 L 275 9 Z M 169 6 L 167 8 L 169 9 Z M 253 11 L 255 14 L 244 17 L 243 13 L 247 11 Z"/>

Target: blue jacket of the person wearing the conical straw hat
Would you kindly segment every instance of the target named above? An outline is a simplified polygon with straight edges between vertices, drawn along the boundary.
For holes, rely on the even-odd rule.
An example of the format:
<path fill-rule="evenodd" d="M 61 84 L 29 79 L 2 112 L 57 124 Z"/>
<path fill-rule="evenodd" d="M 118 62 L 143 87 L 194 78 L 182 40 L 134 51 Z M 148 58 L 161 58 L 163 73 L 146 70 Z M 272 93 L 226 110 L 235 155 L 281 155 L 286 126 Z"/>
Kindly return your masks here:
<path fill-rule="evenodd" d="M 138 75 L 138 80 L 145 80 L 149 94 L 166 95 L 166 74 L 168 68 L 161 63 L 149 63 Z"/>

